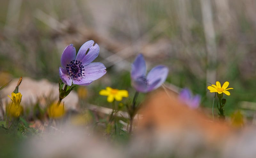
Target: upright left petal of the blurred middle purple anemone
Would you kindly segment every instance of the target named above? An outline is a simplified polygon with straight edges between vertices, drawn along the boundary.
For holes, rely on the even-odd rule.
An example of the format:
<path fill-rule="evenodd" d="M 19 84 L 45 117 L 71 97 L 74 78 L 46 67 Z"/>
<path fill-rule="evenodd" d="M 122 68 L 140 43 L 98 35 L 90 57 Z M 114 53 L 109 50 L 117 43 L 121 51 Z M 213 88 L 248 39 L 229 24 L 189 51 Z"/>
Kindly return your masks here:
<path fill-rule="evenodd" d="M 132 79 L 136 79 L 141 76 L 146 76 L 146 62 L 143 58 L 142 54 L 139 54 L 134 62 L 132 63 L 132 68 L 131 68 L 131 77 Z"/>

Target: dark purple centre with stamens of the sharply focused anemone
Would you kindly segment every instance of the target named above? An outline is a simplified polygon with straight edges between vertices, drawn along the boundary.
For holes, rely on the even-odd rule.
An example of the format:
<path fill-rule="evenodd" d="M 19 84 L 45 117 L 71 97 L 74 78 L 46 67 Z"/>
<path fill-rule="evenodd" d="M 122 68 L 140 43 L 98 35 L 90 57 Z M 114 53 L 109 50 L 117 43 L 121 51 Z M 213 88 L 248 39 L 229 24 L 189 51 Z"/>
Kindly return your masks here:
<path fill-rule="evenodd" d="M 84 75 L 84 66 L 82 65 L 82 62 L 77 60 L 70 61 L 70 64 L 67 64 L 66 70 L 68 72 L 68 75 L 70 75 L 73 78 L 82 77 Z"/>

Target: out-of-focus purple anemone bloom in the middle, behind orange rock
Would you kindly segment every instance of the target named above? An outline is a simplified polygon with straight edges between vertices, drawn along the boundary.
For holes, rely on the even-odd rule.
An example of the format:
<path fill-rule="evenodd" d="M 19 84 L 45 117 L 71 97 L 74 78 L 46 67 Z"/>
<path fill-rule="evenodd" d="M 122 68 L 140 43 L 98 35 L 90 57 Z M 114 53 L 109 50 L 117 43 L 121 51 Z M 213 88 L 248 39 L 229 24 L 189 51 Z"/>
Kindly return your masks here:
<path fill-rule="evenodd" d="M 158 65 L 152 68 L 148 75 L 146 62 L 142 54 L 139 54 L 132 63 L 131 78 L 132 86 L 136 91 L 149 92 L 153 91 L 164 83 L 169 69 L 166 66 Z"/>

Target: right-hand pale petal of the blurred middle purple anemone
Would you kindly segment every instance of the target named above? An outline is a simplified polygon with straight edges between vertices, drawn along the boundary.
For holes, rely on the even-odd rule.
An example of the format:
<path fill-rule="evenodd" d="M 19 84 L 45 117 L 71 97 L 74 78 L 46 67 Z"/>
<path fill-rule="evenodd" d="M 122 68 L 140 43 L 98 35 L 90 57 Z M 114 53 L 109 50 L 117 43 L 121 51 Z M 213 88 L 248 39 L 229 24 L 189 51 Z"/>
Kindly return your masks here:
<path fill-rule="evenodd" d="M 169 69 L 163 65 L 156 66 L 149 71 L 147 75 L 147 80 L 148 80 L 148 85 L 152 87 L 152 90 L 158 88 L 159 86 L 161 86 L 162 83 L 164 83 L 168 75 L 168 71 Z M 154 86 L 152 86 L 153 83 L 156 83 L 157 80 L 160 80 L 160 81 Z"/>

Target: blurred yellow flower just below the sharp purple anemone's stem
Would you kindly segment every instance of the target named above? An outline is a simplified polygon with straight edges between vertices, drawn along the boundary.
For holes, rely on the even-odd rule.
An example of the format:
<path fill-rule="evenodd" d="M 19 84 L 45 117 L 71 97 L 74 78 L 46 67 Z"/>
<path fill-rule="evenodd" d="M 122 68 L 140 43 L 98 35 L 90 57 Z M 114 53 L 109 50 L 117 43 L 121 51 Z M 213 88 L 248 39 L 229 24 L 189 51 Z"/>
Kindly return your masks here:
<path fill-rule="evenodd" d="M 50 118 L 60 118 L 65 114 L 64 104 L 58 105 L 57 102 L 52 103 L 47 108 L 47 113 Z"/>

